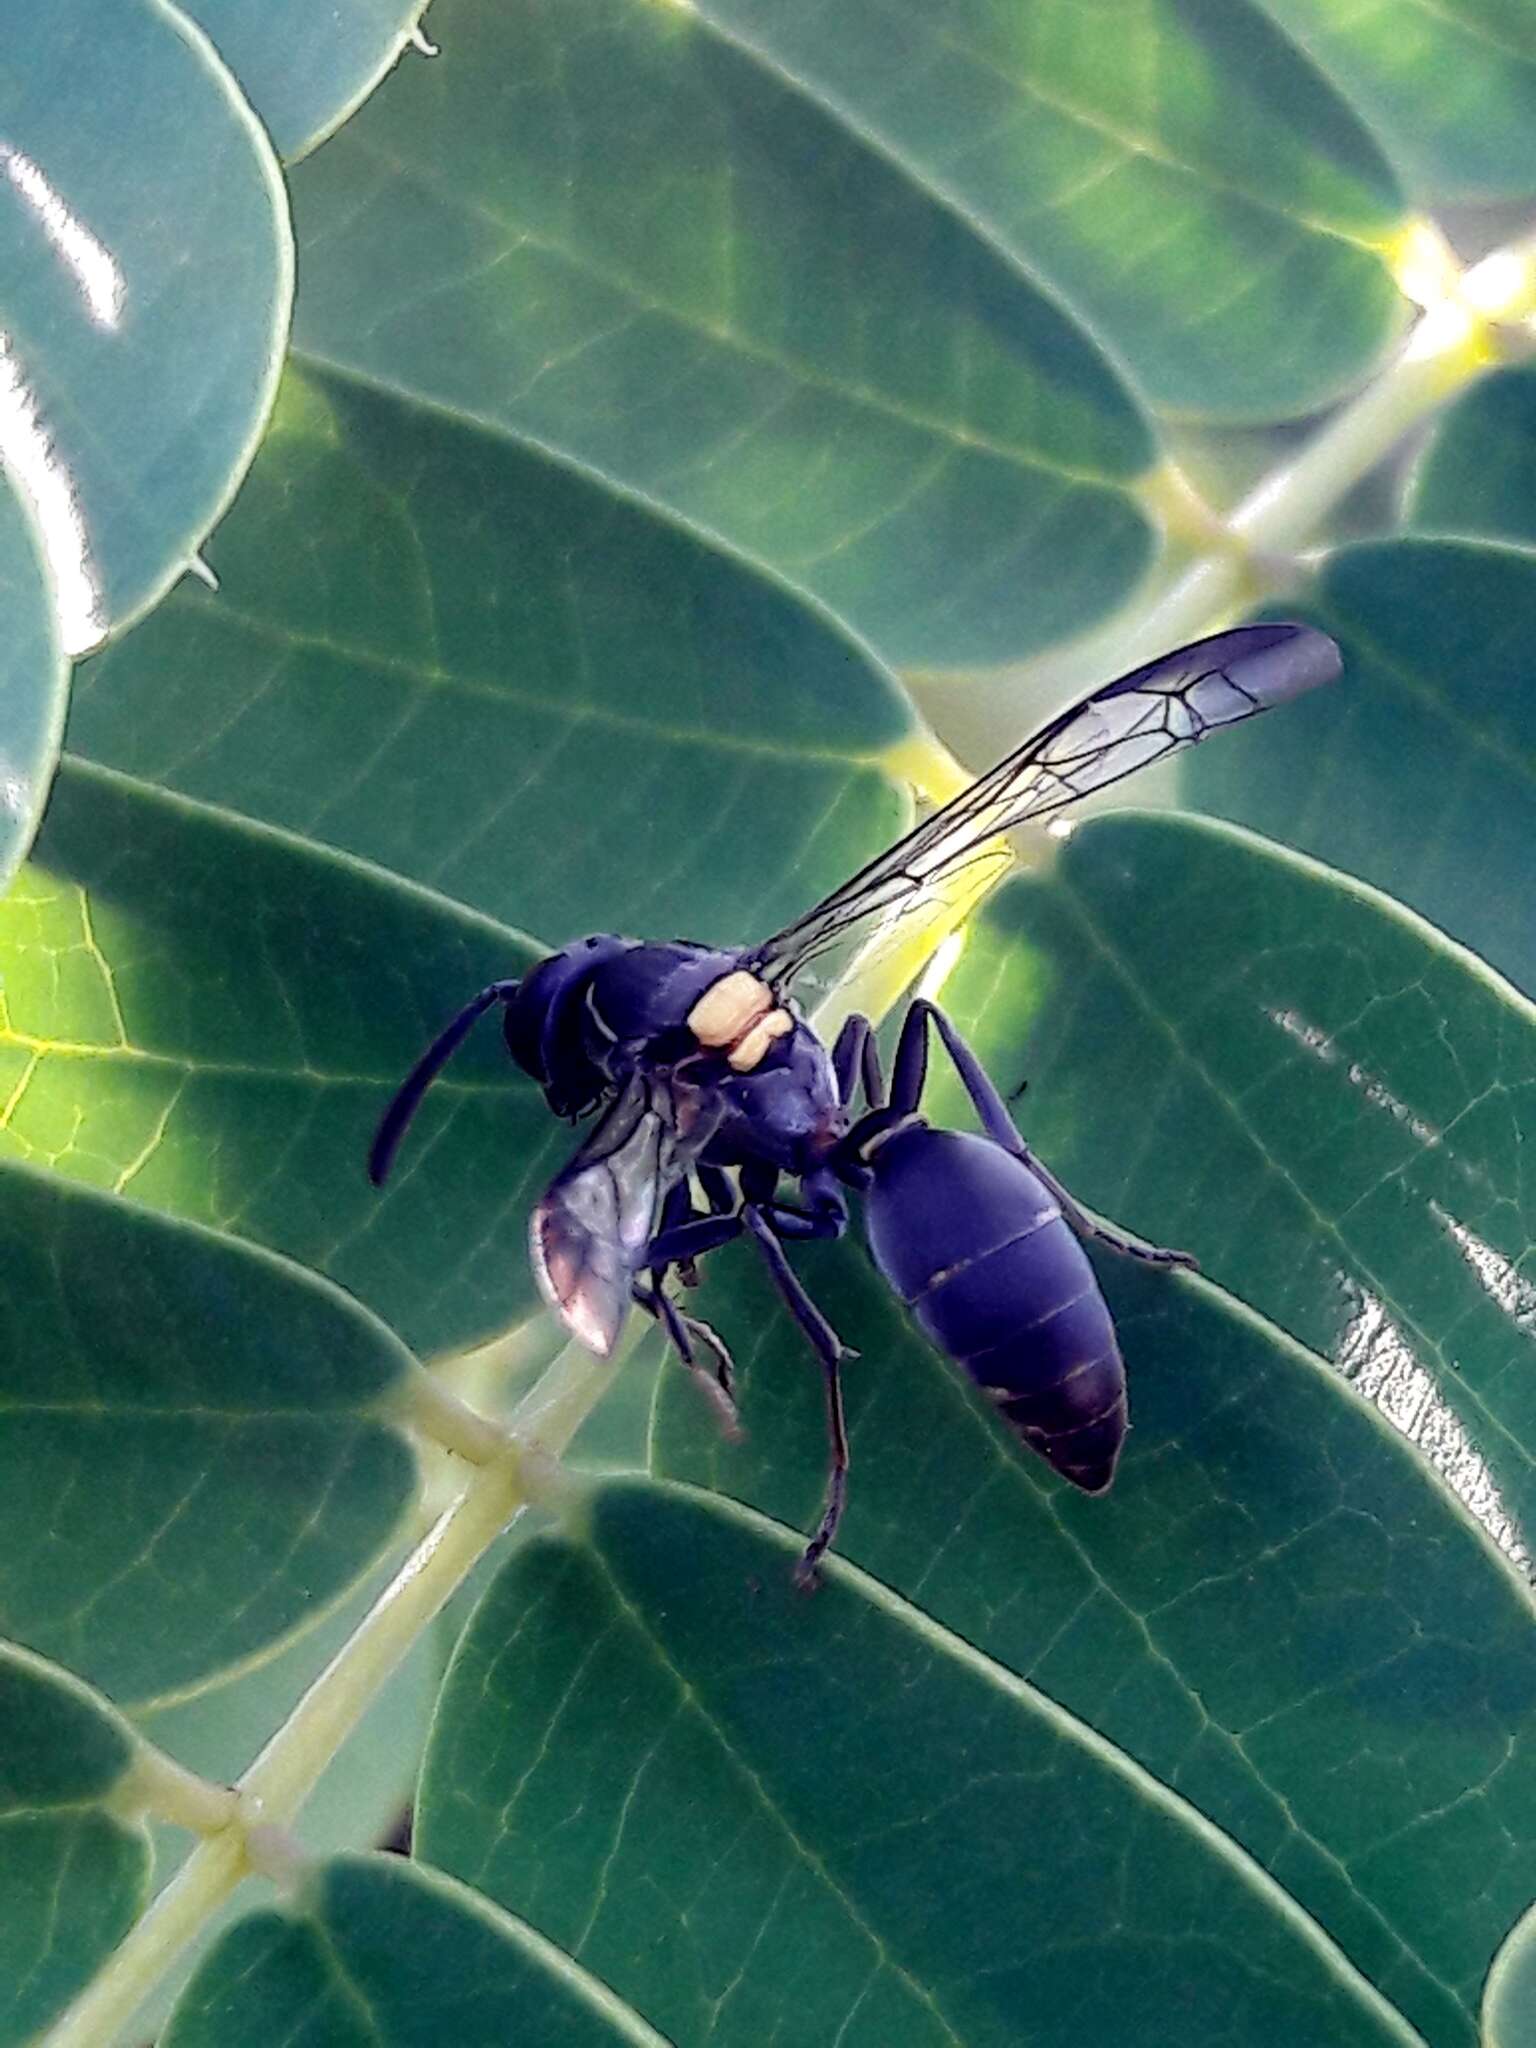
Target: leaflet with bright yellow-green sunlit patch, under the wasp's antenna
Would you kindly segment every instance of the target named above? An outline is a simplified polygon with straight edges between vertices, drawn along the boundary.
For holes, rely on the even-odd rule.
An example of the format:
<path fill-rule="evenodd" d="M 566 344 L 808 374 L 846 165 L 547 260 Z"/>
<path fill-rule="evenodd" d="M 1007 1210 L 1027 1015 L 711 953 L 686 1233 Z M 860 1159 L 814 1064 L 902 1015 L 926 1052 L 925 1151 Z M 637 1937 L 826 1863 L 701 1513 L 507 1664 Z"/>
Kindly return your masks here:
<path fill-rule="evenodd" d="M 426 1040 L 518 973 L 516 932 L 375 868 L 66 762 L 0 903 L 0 1151 L 254 1237 L 420 1350 L 532 1303 L 526 1214 L 569 1137 L 494 1028 L 369 1141 Z"/>

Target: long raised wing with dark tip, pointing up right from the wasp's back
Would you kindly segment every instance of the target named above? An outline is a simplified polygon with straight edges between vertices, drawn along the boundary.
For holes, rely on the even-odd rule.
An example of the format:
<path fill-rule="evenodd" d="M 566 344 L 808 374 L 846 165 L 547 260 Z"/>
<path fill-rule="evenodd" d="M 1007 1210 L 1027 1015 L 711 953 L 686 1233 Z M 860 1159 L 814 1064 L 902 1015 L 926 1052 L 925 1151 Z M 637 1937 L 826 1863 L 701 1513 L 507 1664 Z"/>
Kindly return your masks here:
<path fill-rule="evenodd" d="M 1106 788 L 1178 748 L 1331 682 L 1343 662 L 1300 625 L 1235 627 L 1178 647 L 1063 711 L 905 840 L 750 952 L 774 987 L 864 926 L 907 924 L 1008 860 L 997 836 Z"/>

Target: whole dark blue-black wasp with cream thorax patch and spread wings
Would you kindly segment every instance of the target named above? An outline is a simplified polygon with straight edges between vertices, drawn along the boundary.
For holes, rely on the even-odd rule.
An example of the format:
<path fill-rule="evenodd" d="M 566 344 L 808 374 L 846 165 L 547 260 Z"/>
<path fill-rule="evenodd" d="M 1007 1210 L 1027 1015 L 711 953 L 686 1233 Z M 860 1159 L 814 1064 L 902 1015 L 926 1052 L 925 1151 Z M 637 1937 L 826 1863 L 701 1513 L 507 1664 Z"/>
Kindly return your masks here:
<path fill-rule="evenodd" d="M 758 946 L 645 944 L 600 934 L 494 981 L 426 1049 L 379 1124 L 381 1184 L 428 1083 L 475 1018 L 502 1008 L 512 1059 L 557 1116 L 598 1120 L 532 1214 L 532 1266 L 567 1329 L 606 1356 L 631 1307 L 655 1315 L 729 1401 L 719 1337 L 684 1315 L 670 1274 L 750 1235 L 821 1362 L 831 1477 L 801 1561 L 811 1579 L 842 1516 L 848 1354 L 797 1280 L 784 1243 L 840 1237 L 864 1202 L 877 1268 L 924 1333 L 991 1395 L 1020 1438 L 1085 1493 L 1102 1493 L 1126 1432 L 1114 1323 L 1079 1237 L 1159 1266 L 1186 1253 L 1092 1221 L 1014 1128 L 975 1053 L 930 1001 L 909 1004 L 887 1090 L 870 1024 L 827 1051 L 793 987 L 834 948 L 879 946 L 1006 860 L 997 834 L 1133 774 L 1223 725 L 1339 674 L 1331 639 L 1298 625 L 1237 627 L 1094 690 L 926 817 L 852 881 Z M 922 1094 L 928 1034 L 954 1061 L 981 1133 L 934 1130 Z M 860 1100 L 862 1098 L 862 1100 Z M 780 1200 L 780 1182 L 799 1184 Z"/>

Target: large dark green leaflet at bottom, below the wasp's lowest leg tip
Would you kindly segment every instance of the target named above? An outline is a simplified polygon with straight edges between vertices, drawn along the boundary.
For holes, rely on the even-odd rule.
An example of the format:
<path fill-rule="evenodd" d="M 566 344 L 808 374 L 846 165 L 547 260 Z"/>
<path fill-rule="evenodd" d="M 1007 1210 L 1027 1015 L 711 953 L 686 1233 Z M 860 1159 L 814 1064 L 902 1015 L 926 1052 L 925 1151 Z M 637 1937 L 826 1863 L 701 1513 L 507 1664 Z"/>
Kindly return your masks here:
<path fill-rule="evenodd" d="M 1192 1806 L 874 1581 L 602 1487 L 444 1688 L 420 1851 L 678 2044 L 1407 2042 Z"/>

